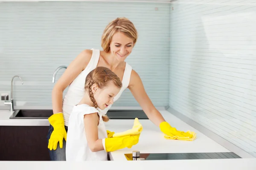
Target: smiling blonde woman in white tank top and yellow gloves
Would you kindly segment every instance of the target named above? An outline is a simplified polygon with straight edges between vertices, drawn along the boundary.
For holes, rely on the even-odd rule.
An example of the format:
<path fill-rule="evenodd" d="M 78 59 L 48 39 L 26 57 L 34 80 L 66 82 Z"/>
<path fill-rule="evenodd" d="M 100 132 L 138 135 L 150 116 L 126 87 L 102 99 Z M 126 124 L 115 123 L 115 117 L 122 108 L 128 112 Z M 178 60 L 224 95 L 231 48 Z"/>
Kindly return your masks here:
<path fill-rule="evenodd" d="M 105 28 L 102 35 L 103 51 L 91 49 L 82 51 L 67 67 L 64 74 L 52 90 L 53 115 L 49 117 L 49 133 L 47 139 L 51 160 L 65 161 L 65 141 L 67 138 L 68 120 L 73 106 L 84 96 L 84 82 L 87 74 L 94 68 L 103 66 L 113 71 L 122 81 L 122 88 L 115 96 L 114 102 L 122 92 L 129 88 L 143 111 L 156 126 L 166 135 L 189 136 L 189 133 L 177 131 L 165 122 L 163 116 L 154 107 L 143 87 L 140 76 L 125 59 L 131 54 L 137 42 L 137 30 L 127 18 L 116 18 Z M 63 91 L 69 86 L 67 94 Z M 101 113 L 107 113 L 109 105 Z M 58 145 L 59 142 L 59 145 Z M 52 150 L 53 149 L 53 150 Z"/>

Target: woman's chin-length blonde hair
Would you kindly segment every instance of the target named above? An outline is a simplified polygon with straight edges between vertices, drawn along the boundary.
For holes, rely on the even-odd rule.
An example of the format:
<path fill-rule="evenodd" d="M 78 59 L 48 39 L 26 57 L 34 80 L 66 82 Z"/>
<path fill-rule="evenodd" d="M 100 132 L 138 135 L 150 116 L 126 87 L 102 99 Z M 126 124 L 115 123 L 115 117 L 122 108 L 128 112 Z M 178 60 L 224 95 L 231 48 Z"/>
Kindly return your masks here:
<path fill-rule="evenodd" d="M 110 50 L 109 45 L 112 40 L 113 34 L 115 34 L 116 32 L 122 32 L 127 37 L 131 38 L 134 41 L 134 45 L 137 42 L 138 33 L 134 24 L 125 17 L 116 18 L 115 20 L 111 21 L 108 26 L 106 26 L 102 34 L 101 45 L 106 53 L 108 53 L 108 51 Z"/>

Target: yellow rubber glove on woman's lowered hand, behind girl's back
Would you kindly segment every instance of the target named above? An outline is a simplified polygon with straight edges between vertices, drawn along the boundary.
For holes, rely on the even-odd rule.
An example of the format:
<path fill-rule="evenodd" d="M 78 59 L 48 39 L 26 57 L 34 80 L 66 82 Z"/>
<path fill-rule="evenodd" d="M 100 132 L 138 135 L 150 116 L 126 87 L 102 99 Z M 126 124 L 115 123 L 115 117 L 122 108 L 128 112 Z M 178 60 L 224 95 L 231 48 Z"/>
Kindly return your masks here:
<path fill-rule="evenodd" d="M 63 113 L 53 114 L 48 118 L 48 120 L 53 127 L 53 131 L 48 143 L 48 149 L 56 150 L 58 142 L 60 143 L 60 148 L 62 148 L 63 138 L 65 139 L 65 141 L 67 141 L 67 132 L 64 127 Z"/>

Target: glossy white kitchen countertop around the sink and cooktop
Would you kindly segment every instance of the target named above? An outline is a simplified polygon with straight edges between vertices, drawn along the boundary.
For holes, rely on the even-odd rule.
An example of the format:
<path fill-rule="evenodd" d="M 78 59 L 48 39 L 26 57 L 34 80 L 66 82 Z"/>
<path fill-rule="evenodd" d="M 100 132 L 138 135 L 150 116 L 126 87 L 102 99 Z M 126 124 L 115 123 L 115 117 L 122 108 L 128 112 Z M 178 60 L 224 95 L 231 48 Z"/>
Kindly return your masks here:
<path fill-rule="evenodd" d="M 132 153 L 133 150 L 139 150 L 140 153 L 205 153 L 205 152 L 230 152 L 225 147 L 221 146 L 220 144 L 216 143 L 209 137 L 205 136 L 200 131 L 196 130 L 195 128 L 187 125 L 185 122 L 181 121 L 168 111 L 160 111 L 163 117 L 169 122 L 173 127 L 176 127 L 177 130 L 191 130 L 197 133 L 197 139 L 195 141 L 180 141 L 180 140 L 168 140 L 165 139 L 163 136 L 164 134 L 160 131 L 159 127 L 155 126 L 150 120 L 140 119 L 140 123 L 143 125 L 143 132 L 140 135 L 140 141 L 137 145 L 133 146 L 132 148 L 124 148 L 121 150 L 113 151 L 110 154 L 111 160 L 113 161 L 105 161 L 101 162 L 98 166 L 108 167 L 112 165 L 116 167 L 116 169 L 123 167 L 133 166 L 132 169 L 141 169 L 141 168 L 149 168 L 149 167 L 157 167 L 162 169 L 170 169 L 171 167 L 179 167 L 179 169 L 185 169 L 185 167 L 189 169 L 196 169 L 199 170 L 200 167 L 216 169 L 227 169 L 233 168 L 233 170 L 241 170 L 243 167 L 244 170 L 256 169 L 256 159 L 200 159 L 200 160 L 161 160 L 161 161 L 127 161 L 124 154 L 125 153 Z M 9 119 L 12 113 L 8 110 L 0 110 L 0 126 L 1 125 L 11 125 L 11 126 L 48 126 L 49 122 L 47 119 Z M 122 132 L 128 129 L 131 129 L 133 126 L 134 120 L 129 119 L 112 119 L 109 122 L 106 122 L 106 128 L 108 130 L 114 132 Z M 113 164 L 114 162 L 114 164 Z M 116 163 L 115 163 L 116 162 Z M 243 163 L 243 165 L 242 165 Z M 23 162 L 15 162 L 12 161 L 3 161 L 0 162 L 0 167 L 4 167 L 5 165 L 9 164 L 10 168 L 16 169 Z M 34 162 L 31 162 L 34 164 Z M 41 166 L 38 166 L 42 164 Z M 44 166 L 43 166 L 44 164 Z M 66 169 L 67 167 L 73 166 L 73 163 L 53 163 L 53 162 L 39 162 L 37 167 L 45 168 L 51 166 L 61 166 L 61 168 Z M 87 165 L 95 164 L 92 162 L 83 162 L 78 163 L 83 167 L 87 167 Z M 117 165 L 120 164 L 120 165 Z M 27 165 L 27 163 L 26 163 Z M 77 165 L 77 164 L 76 164 Z M 135 166 L 135 167 L 134 167 Z M 198 167 L 195 167 L 198 166 Z M 247 166 L 247 167 L 245 167 Z M 31 167 L 32 168 L 32 167 Z M 91 167 L 93 168 L 93 167 Z M 8 168 L 9 169 L 9 168 Z M 78 167 L 79 169 L 79 167 Z M 80 167 L 81 169 L 81 167 Z M 108 168 L 110 169 L 110 168 Z"/>

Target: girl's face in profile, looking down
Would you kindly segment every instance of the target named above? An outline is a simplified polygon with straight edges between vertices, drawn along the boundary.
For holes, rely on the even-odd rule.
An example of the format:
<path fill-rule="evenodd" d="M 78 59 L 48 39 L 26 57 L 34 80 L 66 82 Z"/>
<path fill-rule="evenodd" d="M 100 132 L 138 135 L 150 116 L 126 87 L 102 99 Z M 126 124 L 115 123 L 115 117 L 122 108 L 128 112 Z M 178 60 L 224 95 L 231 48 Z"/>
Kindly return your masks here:
<path fill-rule="evenodd" d="M 120 90 L 112 81 L 109 81 L 104 88 L 99 88 L 96 84 L 92 85 L 94 99 L 101 110 L 113 104 L 113 99 Z"/>

